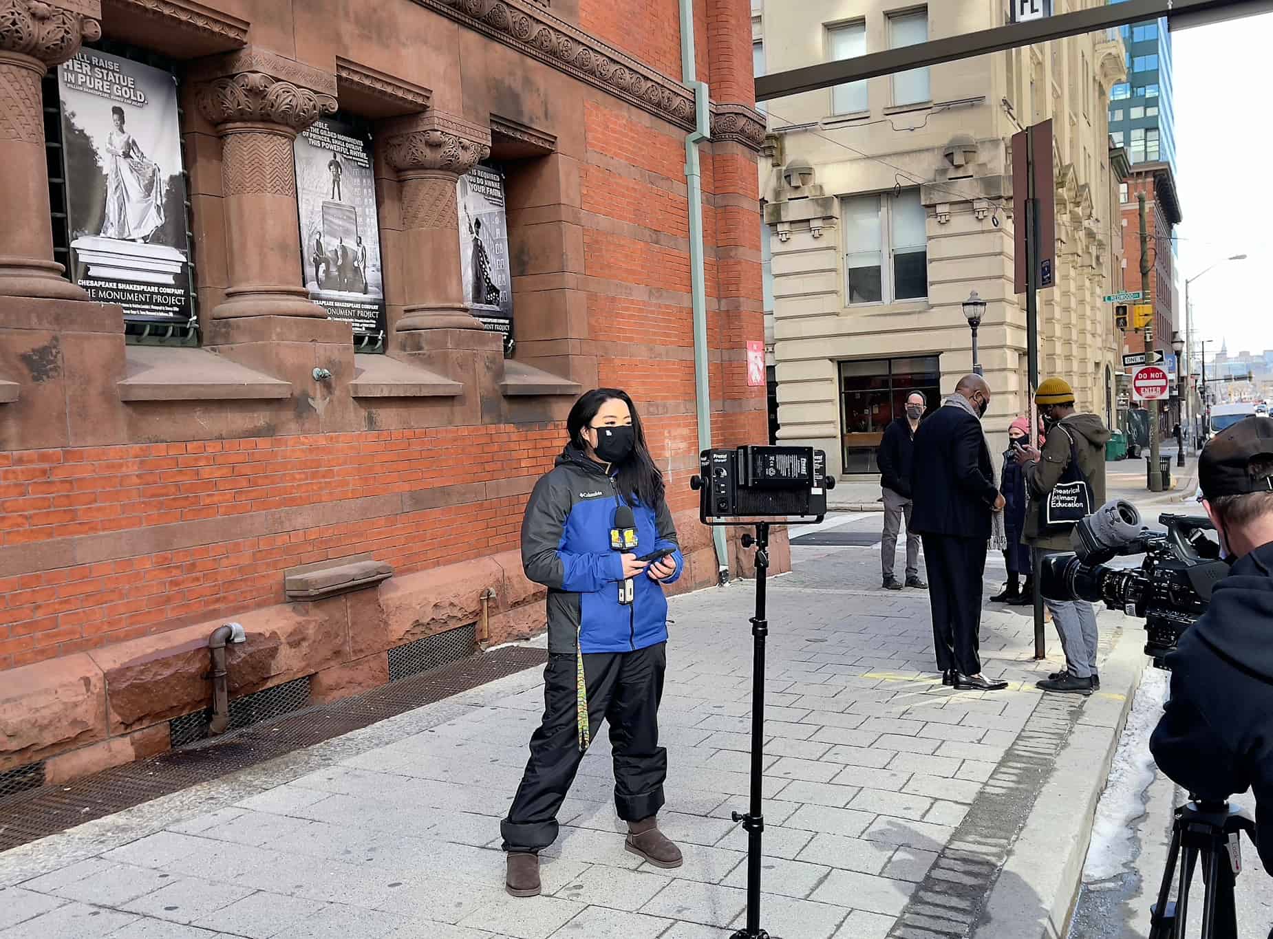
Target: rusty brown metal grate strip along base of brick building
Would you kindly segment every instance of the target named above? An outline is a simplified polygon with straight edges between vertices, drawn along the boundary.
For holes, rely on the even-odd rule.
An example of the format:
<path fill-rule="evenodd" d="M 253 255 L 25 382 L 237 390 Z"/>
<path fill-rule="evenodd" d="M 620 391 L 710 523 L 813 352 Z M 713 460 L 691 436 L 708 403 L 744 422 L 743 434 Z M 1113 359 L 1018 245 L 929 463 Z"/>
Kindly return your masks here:
<path fill-rule="evenodd" d="M 25 791 L 14 791 L 10 784 L 8 790 L 0 789 L 0 851 L 275 760 L 496 678 L 542 667 L 545 662 L 544 649 L 505 646 L 71 783 Z M 230 705 L 233 709 L 234 702 Z M 19 771 L 38 772 L 43 779 L 43 767 L 34 763 L 9 770 L 0 780 Z"/>

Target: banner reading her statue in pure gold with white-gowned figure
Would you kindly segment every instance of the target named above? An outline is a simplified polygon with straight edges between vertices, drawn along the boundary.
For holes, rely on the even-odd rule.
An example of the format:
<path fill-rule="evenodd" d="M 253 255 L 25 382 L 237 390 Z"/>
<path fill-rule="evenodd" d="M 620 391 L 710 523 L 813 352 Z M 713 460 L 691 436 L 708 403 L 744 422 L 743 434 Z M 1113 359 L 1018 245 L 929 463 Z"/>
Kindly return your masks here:
<path fill-rule="evenodd" d="M 85 48 L 57 70 L 69 275 L 132 322 L 193 316 L 173 76 Z"/>

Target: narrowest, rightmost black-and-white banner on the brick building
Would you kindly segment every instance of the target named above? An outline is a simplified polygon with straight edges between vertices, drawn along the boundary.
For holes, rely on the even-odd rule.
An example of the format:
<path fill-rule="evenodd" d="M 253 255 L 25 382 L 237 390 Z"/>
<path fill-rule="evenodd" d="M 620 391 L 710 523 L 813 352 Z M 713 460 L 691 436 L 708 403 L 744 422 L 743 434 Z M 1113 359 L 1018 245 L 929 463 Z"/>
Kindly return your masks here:
<path fill-rule="evenodd" d="M 460 177 L 460 267 L 465 303 L 484 327 L 513 344 L 513 277 L 508 265 L 508 218 L 504 176 L 491 167 L 474 167 Z"/>

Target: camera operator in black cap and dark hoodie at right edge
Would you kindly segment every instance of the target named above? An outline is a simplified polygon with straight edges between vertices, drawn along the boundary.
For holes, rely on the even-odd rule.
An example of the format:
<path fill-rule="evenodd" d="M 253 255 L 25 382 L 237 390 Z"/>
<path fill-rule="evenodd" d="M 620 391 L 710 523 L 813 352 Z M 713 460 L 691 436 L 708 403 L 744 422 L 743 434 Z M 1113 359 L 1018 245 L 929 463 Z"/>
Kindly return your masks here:
<path fill-rule="evenodd" d="M 1199 799 L 1250 788 L 1260 860 L 1273 874 L 1273 420 L 1217 434 L 1198 478 L 1231 569 L 1167 655 L 1171 699 L 1150 751 Z"/>

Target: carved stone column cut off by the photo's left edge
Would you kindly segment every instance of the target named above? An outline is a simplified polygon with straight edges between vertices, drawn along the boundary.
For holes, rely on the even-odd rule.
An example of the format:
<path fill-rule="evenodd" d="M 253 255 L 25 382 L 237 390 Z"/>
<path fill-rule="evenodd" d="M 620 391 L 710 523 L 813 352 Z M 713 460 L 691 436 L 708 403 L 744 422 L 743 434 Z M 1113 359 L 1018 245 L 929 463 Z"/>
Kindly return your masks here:
<path fill-rule="evenodd" d="M 87 300 L 53 262 L 39 81 L 102 34 L 98 0 L 0 0 L 0 295 Z"/>

